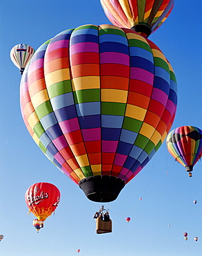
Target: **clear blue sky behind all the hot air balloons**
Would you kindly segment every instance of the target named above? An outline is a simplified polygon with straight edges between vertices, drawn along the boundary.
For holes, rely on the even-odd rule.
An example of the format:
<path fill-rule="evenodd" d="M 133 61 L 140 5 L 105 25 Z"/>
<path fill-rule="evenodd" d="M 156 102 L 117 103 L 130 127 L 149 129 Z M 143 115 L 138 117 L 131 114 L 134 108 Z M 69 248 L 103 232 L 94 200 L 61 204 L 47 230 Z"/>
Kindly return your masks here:
<path fill-rule="evenodd" d="M 150 36 L 176 73 L 179 102 L 172 129 L 202 129 L 201 9 L 201 0 L 176 1 L 165 24 Z M 83 256 L 202 255 L 201 162 L 189 178 L 163 143 L 118 199 L 104 204 L 110 208 L 113 232 L 97 235 L 92 216 L 100 204 L 89 201 L 59 172 L 28 134 L 19 107 L 21 75 L 10 60 L 10 49 L 21 43 L 37 49 L 57 33 L 82 24 L 110 24 L 99 0 L 0 2 L 0 255 L 72 256 L 78 248 Z M 61 203 L 37 234 L 24 194 L 41 181 L 59 188 Z M 131 217 L 130 223 L 125 217 Z M 188 232 L 188 241 L 183 232 Z"/>

